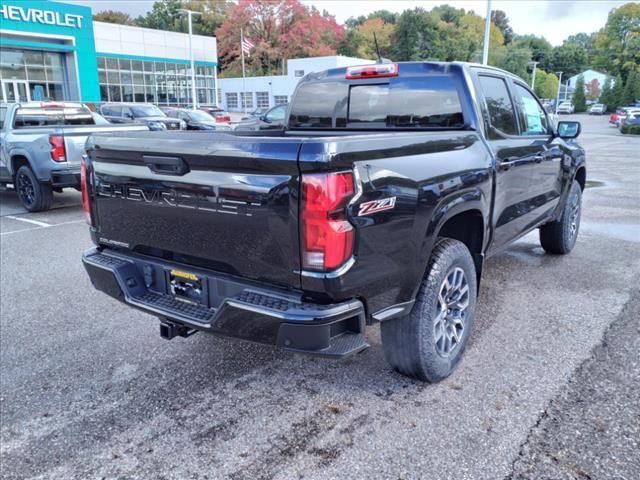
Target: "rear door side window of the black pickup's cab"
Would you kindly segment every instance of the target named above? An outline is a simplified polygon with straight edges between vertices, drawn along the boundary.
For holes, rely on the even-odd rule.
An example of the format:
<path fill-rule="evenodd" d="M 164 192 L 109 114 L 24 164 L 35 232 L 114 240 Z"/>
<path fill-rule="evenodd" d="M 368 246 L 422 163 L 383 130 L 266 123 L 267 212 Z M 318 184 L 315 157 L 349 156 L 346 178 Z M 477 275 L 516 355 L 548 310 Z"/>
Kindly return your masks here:
<path fill-rule="evenodd" d="M 502 138 L 499 132 L 518 135 L 515 110 L 504 79 L 488 75 L 479 75 L 478 79 L 489 110 L 489 122 L 493 127 L 489 130 L 489 138 Z"/>

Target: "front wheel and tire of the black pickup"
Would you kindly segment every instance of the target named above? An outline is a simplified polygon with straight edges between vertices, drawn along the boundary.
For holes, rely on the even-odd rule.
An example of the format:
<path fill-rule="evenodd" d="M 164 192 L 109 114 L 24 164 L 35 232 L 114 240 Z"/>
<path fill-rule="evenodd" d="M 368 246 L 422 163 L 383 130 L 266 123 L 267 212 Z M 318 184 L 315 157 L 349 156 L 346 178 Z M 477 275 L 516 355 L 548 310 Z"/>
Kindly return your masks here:
<path fill-rule="evenodd" d="M 582 189 L 574 180 L 567 195 L 562 215 L 540 227 L 540 244 L 548 253 L 564 255 L 573 250 L 580 231 Z"/>

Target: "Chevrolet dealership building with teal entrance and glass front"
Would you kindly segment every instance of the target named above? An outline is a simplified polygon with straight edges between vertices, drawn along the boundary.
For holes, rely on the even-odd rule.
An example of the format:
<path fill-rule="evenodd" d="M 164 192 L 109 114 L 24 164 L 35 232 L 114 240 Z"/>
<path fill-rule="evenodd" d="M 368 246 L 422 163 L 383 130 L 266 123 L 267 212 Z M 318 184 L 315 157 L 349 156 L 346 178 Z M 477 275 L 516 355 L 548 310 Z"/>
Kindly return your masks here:
<path fill-rule="evenodd" d="M 193 36 L 196 95 L 216 103 L 214 37 Z M 91 9 L 0 0 L 0 101 L 192 102 L 189 35 L 94 22 Z"/>

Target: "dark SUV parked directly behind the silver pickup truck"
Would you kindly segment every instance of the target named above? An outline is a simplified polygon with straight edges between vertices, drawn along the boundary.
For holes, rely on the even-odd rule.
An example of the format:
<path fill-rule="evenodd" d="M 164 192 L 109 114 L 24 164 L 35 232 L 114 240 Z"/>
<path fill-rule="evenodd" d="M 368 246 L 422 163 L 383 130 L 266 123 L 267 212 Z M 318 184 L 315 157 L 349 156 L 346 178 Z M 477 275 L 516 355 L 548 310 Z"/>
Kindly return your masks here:
<path fill-rule="evenodd" d="M 142 123 L 149 130 L 186 130 L 187 125 L 175 118 L 169 118 L 150 103 L 103 103 L 99 112 L 111 123 Z"/>

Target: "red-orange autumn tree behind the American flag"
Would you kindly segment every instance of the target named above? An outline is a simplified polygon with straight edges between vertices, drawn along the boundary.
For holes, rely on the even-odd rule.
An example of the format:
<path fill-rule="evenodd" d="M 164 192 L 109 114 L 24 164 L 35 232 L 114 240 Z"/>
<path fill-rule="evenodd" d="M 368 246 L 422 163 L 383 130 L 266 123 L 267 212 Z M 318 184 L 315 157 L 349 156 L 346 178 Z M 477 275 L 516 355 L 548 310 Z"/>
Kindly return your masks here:
<path fill-rule="evenodd" d="M 240 29 L 255 48 L 245 57 L 248 76 L 282 73 L 289 58 L 335 55 L 344 28 L 298 0 L 240 0 L 216 30 L 222 76 L 242 74 Z"/>

